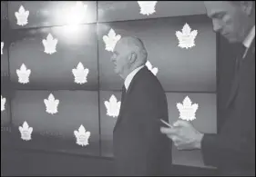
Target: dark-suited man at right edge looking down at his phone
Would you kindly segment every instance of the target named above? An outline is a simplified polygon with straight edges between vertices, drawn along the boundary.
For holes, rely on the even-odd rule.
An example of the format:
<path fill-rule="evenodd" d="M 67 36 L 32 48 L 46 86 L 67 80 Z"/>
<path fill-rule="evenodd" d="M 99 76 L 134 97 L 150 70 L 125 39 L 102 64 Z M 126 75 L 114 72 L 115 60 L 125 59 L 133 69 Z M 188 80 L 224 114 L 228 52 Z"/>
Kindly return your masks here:
<path fill-rule="evenodd" d="M 241 44 L 225 119 L 220 133 L 200 133 L 190 123 L 178 121 L 161 128 L 179 150 L 200 149 L 206 165 L 221 175 L 255 176 L 255 2 L 205 2 L 215 32 L 230 44 Z M 222 60 L 225 60 L 223 58 Z M 227 68 L 229 69 L 229 68 Z"/>

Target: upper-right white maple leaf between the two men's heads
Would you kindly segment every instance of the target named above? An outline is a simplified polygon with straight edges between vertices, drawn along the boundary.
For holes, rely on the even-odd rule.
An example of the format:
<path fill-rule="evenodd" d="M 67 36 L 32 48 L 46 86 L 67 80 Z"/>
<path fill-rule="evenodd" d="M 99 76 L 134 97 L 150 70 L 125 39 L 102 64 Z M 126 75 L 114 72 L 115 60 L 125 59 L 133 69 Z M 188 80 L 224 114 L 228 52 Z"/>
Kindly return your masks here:
<path fill-rule="evenodd" d="M 192 46 L 195 46 L 195 38 L 197 34 L 197 30 L 193 30 L 191 32 L 189 25 L 185 24 L 182 28 L 182 32 L 176 32 L 176 36 L 179 40 L 179 47 L 188 49 Z"/>

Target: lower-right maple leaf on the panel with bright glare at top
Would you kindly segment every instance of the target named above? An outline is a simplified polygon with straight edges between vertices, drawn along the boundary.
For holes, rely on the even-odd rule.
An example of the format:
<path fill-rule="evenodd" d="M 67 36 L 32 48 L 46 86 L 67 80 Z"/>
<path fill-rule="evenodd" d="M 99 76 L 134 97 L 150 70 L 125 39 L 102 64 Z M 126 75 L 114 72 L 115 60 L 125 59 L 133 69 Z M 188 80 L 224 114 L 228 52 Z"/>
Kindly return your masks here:
<path fill-rule="evenodd" d="M 75 83 L 87 83 L 87 74 L 89 73 L 89 70 L 85 68 L 82 63 L 79 62 L 79 64 L 77 64 L 77 69 L 72 69 L 72 73 L 75 76 Z"/>

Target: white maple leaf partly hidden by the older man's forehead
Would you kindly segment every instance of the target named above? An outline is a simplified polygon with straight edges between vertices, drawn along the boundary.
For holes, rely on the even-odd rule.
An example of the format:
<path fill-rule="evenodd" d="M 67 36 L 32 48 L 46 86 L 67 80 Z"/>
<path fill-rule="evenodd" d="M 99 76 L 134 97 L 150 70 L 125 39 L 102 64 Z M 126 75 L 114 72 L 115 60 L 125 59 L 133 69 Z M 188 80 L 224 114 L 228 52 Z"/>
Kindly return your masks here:
<path fill-rule="evenodd" d="M 111 28 L 108 32 L 108 35 L 103 36 L 103 41 L 106 44 L 106 50 L 113 52 L 116 44 L 121 39 L 120 34 L 116 34 L 116 32 Z"/>

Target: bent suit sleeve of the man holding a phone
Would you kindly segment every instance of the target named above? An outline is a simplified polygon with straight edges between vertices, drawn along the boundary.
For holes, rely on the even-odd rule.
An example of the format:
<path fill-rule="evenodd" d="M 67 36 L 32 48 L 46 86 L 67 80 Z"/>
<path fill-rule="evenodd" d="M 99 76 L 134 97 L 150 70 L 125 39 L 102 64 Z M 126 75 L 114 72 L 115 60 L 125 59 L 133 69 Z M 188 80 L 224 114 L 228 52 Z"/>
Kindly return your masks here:
<path fill-rule="evenodd" d="M 226 115 L 228 120 L 219 134 L 204 134 L 201 152 L 206 165 L 255 163 L 255 83 L 248 91 L 239 100 L 239 111 Z"/>

